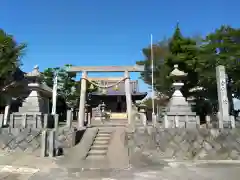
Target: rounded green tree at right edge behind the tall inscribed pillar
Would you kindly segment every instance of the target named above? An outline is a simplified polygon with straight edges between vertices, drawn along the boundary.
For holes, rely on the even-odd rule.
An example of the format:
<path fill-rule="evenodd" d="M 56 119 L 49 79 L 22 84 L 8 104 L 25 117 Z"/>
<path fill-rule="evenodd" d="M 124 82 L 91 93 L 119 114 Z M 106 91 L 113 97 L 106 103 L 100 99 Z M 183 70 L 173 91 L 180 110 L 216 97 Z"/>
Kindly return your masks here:
<path fill-rule="evenodd" d="M 217 105 L 215 67 L 224 65 L 227 72 L 228 99 L 230 111 L 233 113 L 233 98 L 240 97 L 240 29 L 221 26 L 205 38 L 201 47 L 201 64 L 204 65 L 200 74 L 200 85 L 205 95 Z M 232 96 L 232 94 L 234 96 Z"/>

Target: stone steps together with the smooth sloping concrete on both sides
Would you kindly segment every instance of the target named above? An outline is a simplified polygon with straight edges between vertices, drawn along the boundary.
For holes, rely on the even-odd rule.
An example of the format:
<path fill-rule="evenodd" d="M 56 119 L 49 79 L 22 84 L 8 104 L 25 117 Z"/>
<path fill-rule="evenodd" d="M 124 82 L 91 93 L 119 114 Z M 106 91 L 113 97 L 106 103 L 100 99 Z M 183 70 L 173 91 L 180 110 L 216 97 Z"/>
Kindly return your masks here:
<path fill-rule="evenodd" d="M 125 127 L 87 128 L 80 143 L 68 149 L 57 163 L 67 168 L 127 168 L 129 151 L 125 136 Z"/>

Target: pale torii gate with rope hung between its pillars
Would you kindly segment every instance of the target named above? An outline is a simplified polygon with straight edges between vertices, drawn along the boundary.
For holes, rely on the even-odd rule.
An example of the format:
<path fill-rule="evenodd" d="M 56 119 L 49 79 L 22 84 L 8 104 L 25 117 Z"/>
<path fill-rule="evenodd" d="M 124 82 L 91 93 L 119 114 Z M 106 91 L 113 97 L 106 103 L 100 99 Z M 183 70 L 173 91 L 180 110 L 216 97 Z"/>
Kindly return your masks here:
<path fill-rule="evenodd" d="M 81 78 L 81 92 L 80 92 L 80 103 L 79 103 L 79 113 L 78 113 L 78 128 L 81 129 L 84 126 L 85 119 L 85 103 L 86 103 L 86 90 L 87 90 L 87 74 L 88 72 L 124 72 L 125 81 L 125 93 L 126 93 L 126 103 L 127 103 L 127 115 L 128 124 L 131 123 L 131 112 L 132 112 L 132 96 L 130 88 L 130 77 L 129 72 L 143 72 L 144 66 L 72 66 L 69 67 L 68 72 L 78 73 L 82 72 Z M 119 81 L 118 83 L 120 83 Z"/>

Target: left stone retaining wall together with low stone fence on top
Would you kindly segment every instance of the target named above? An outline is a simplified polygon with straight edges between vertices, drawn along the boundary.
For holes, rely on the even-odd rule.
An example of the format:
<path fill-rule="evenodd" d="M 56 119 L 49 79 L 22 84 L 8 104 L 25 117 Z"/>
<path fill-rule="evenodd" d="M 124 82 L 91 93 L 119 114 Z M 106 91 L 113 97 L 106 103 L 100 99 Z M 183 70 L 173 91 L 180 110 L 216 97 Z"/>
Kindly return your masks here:
<path fill-rule="evenodd" d="M 4 125 L 0 116 L 0 153 L 26 152 L 36 156 L 62 155 L 64 149 L 76 145 L 84 130 L 72 127 L 72 112 L 67 112 L 65 126 L 59 126 L 59 116 L 11 114 Z"/>

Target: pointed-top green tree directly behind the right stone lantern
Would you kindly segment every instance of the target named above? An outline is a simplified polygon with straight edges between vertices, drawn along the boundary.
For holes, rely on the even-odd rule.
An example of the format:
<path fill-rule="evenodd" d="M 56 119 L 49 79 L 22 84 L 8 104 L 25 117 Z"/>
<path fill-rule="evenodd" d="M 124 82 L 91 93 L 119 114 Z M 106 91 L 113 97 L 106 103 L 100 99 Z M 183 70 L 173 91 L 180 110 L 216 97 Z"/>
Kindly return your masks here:
<path fill-rule="evenodd" d="M 145 65 L 145 71 L 141 74 L 141 78 L 147 84 L 151 84 L 152 78 L 150 52 L 150 47 L 143 49 L 145 60 L 137 62 L 137 64 Z M 153 46 L 155 89 L 165 95 L 172 94 L 172 80 L 169 78 L 169 74 L 173 70 L 173 66 L 178 64 L 180 70 L 188 73 L 182 89 L 183 94 L 188 96 L 189 89 L 196 86 L 198 82 L 197 58 L 196 41 L 183 37 L 179 25 L 177 25 L 173 36 L 169 40 L 161 41 Z"/>

